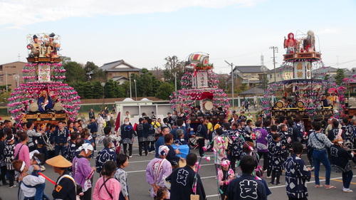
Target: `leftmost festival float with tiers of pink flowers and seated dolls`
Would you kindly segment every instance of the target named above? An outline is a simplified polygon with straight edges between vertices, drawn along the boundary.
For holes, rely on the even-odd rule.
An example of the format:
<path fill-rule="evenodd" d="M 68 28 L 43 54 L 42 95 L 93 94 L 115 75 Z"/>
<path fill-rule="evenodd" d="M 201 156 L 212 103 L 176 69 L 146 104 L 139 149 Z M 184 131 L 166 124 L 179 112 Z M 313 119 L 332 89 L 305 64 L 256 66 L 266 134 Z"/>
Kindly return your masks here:
<path fill-rule="evenodd" d="M 59 51 L 61 36 L 54 33 L 27 36 L 28 58 L 23 82 L 9 98 L 9 111 L 16 122 L 75 120 L 80 108 L 78 93 L 68 84 Z"/>

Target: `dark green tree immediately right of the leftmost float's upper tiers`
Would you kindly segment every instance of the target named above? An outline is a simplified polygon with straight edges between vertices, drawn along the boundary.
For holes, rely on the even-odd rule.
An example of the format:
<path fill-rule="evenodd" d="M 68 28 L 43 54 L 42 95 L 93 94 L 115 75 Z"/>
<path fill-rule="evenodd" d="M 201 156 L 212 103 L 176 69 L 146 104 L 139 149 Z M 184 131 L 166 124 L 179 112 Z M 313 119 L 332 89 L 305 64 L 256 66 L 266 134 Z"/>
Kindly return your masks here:
<path fill-rule="evenodd" d="M 66 83 L 78 83 L 86 80 L 85 70 L 79 63 L 70 61 L 64 64 L 63 68 L 66 69 Z"/>

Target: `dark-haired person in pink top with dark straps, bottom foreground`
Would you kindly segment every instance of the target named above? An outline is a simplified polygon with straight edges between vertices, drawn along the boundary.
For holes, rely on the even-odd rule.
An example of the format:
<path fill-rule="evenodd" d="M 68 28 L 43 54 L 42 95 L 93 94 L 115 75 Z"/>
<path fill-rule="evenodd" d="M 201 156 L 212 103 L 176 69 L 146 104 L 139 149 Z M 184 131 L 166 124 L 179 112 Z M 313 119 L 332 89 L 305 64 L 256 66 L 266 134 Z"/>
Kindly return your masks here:
<path fill-rule="evenodd" d="M 93 200 L 111 200 L 119 199 L 121 184 L 117 179 L 112 177 L 115 174 L 116 164 L 113 161 L 105 162 L 102 177 L 95 183 Z"/>

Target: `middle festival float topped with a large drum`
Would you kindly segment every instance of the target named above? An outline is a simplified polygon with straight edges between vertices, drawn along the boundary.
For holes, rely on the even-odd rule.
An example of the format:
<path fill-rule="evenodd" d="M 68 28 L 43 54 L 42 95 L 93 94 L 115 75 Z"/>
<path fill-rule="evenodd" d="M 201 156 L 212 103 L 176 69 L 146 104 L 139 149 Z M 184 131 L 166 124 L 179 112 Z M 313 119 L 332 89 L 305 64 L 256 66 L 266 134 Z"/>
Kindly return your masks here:
<path fill-rule="evenodd" d="M 206 53 L 192 53 L 188 56 L 181 80 L 182 89 L 170 96 L 172 109 L 178 115 L 199 122 L 204 115 L 212 121 L 224 120 L 230 103 L 224 90 L 218 88 L 219 80 L 209 63 Z M 194 110 L 199 105 L 201 110 Z"/>

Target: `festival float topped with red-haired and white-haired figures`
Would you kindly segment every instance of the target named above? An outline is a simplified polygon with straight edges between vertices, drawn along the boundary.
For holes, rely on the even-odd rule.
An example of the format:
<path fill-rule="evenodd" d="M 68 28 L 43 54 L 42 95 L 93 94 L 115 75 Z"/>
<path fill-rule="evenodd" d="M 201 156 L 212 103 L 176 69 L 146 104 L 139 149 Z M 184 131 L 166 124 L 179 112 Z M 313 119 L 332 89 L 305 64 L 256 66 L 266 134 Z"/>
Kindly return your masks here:
<path fill-rule="evenodd" d="M 286 54 L 279 70 L 282 80 L 268 86 L 262 101 L 263 110 L 276 118 L 300 115 L 306 125 L 331 116 L 343 117 L 345 88 L 325 80 L 327 70 L 320 49 L 316 50 L 313 31 L 298 36 L 294 38 L 294 34 L 289 33 L 284 40 Z M 321 103 L 323 95 L 332 99 L 330 106 L 324 107 Z M 288 103 L 288 99 L 292 102 Z"/>

